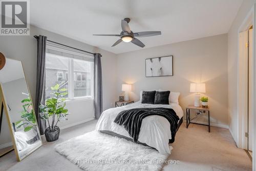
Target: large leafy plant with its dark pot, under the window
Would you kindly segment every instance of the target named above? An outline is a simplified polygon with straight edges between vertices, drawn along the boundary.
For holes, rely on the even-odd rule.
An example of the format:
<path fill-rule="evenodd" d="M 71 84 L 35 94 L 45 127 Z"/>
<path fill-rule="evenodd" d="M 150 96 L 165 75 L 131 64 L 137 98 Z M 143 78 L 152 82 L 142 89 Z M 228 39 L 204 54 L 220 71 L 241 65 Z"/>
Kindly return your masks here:
<path fill-rule="evenodd" d="M 67 115 L 69 114 L 66 108 L 66 99 L 64 98 L 68 92 L 66 92 L 66 88 L 61 88 L 63 85 L 56 84 L 54 87 L 51 87 L 53 97 L 47 99 L 45 105 L 39 106 L 42 113 L 41 118 L 48 123 L 48 127 L 45 130 L 46 141 L 48 142 L 56 141 L 59 138 L 60 129 L 57 123 L 60 119 L 67 120 Z"/>

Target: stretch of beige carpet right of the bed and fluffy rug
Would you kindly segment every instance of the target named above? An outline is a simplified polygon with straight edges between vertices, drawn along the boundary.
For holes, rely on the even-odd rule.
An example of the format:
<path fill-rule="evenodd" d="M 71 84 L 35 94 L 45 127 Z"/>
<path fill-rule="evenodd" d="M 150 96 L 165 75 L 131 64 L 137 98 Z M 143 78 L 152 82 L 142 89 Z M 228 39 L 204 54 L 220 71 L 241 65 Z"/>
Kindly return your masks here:
<path fill-rule="evenodd" d="M 163 170 L 252 170 L 252 163 L 243 149 L 237 148 L 228 129 L 190 124 L 181 126 L 168 160 L 180 164 L 165 165 Z"/>

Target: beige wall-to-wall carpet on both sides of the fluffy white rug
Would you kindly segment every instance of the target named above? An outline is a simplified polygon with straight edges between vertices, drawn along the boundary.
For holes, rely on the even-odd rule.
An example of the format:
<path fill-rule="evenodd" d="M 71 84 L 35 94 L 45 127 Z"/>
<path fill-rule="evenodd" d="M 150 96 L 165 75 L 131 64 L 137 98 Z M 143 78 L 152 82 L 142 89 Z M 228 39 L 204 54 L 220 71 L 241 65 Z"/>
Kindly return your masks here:
<path fill-rule="evenodd" d="M 21 162 L 16 162 L 14 151 L 0 158 L 0 170 L 81 170 L 65 157 L 54 151 L 53 147 L 72 137 L 92 131 L 97 121 L 90 121 L 61 130 L 56 142 L 44 142 L 33 154 Z M 180 164 L 166 164 L 163 170 L 252 170 L 249 157 L 243 149 L 234 144 L 227 129 L 183 124 L 176 135 L 172 154 L 168 160 L 179 160 Z"/>

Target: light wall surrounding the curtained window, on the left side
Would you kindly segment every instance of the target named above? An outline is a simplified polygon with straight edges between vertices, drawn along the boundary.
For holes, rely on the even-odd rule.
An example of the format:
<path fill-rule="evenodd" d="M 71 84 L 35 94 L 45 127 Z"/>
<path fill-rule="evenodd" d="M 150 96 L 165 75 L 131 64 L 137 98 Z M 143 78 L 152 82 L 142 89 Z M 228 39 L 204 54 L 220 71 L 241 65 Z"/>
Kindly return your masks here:
<path fill-rule="evenodd" d="M 22 61 L 26 79 L 28 81 L 32 100 L 35 102 L 36 87 L 36 53 L 37 41 L 34 35 L 48 36 L 48 40 L 76 47 L 90 52 L 99 52 L 102 54 L 102 78 L 103 78 L 103 108 L 111 107 L 116 97 L 116 79 L 113 77 L 116 73 L 116 54 L 98 49 L 97 47 L 70 39 L 68 37 L 52 33 L 34 26 L 30 27 L 30 36 L 1 36 L 0 51 L 6 58 Z M 77 123 L 85 122 L 94 117 L 93 102 L 79 101 L 78 103 L 68 102 L 71 115 L 68 121 L 62 121 L 60 128 L 72 126 Z"/>

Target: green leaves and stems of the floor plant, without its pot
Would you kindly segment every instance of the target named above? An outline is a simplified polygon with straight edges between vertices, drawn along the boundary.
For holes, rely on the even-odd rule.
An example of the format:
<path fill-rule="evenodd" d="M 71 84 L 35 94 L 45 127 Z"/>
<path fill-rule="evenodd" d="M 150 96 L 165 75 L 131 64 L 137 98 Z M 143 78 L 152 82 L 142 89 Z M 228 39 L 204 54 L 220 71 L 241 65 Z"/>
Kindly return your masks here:
<path fill-rule="evenodd" d="M 46 100 L 45 105 L 40 105 L 40 112 L 43 114 L 42 119 L 46 120 L 49 129 L 54 129 L 60 119 L 67 120 L 68 109 L 66 108 L 66 99 L 64 98 L 68 92 L 66 88 L 61 88 L 64 84 L 56 84 L 51 87 L 53 90 L 53 97 Z M 52 123 L 50 124 L 49 119 L 52 118 Z M 55 124 L 55 125 L 54 125 Z"/>

